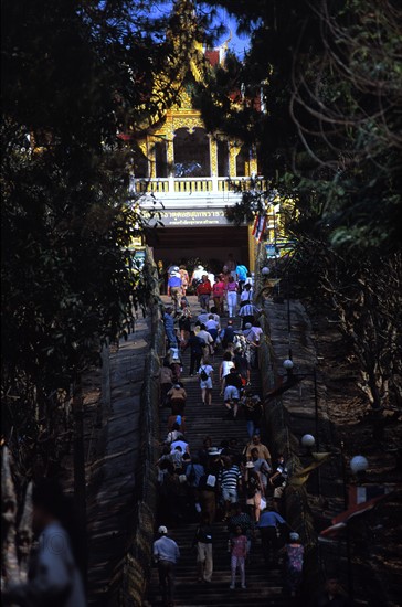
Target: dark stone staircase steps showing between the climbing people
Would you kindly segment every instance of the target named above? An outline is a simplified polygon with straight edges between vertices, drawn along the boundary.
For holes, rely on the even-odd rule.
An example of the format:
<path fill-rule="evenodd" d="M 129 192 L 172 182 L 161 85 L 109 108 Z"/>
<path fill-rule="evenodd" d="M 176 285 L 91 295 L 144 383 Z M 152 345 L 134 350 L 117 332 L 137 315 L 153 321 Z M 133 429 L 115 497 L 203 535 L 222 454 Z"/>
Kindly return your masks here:
<path fill-rule="evenodd" d="M 191 309 L 194 316 L 198 312 L 195 298 L 190 298 Z M 239 326 L 239 320 L 236 321 Z M 225 324 L 225 319 L 222 319 Z M 245 419 L 237 420 L 225 419 L 225 409 L 220 396 L 220 385 L 218 381 L 219 366 L 221 363 L 222 351 L 219 351 L 214 360 L 211 361 L 214 368 L 214 388 L 212 395 L 212 405 L 203 406 L 201 403 L 201 391 L 198 377 L 189 377 L 189 352 L 184 353 L 182 382 L 188 393 L 186 406 L 186 436 L 193 452 L 202 446 L 203 438 L 208 435 L 213 440 L 213 446 L 219 446 L 221 440 L 236 438 L 239 443 L 246 444 L 247 433 Z M 258 390 L 258 372 L 252 373 L 252 385 Z M 169 409 L 161 411 L 161 436 L 167 434 L 167 418 Z M 161 509 L 162 511 L 162 504 Z M 163 521 L 159 521 L 163 524 Z M 266 606 L 287 606 L 294 605 L 292 599 L 282 594 L 283 577 L 282 571 L 268 568 L 262 557 L 261 541 L 257 537 L 254 542 L 250 563 L 246 565 L 246 589 L 240 588 L 240 578 L 237 574 L 236 589 L 231 590 L 230 586 L 230 554 L 228 553 L 228 531 L 222 522 L 215 522 L 214 531 L 214 566 L 213 576 L 210 584 L 197 582 L 197 555 L 192 549 L 192 542 L 195 533 L 197 523 L 183 523 L 174 529 L 169 529 L 170 536 L 178 543 L 181 552 L 181 558 L 176 571 L 176 601 L 174 605 L 184 606 L 211 606 L 223 607 L 234 605 L 266 605 Z M 159 582 L 157 568 L 152 568 L 149 584 L 148 600 L 145 605 L 160 606 L 161 597 L 159 593 Z"/>

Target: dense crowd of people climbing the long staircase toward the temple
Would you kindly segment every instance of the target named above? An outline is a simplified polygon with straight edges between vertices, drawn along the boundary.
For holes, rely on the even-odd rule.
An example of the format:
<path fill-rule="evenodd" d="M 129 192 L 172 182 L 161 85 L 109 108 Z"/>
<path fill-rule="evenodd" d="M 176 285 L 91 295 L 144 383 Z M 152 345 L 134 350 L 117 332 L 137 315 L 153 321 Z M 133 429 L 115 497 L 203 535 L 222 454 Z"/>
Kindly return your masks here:
<path fill-rule="evenodd" d="M 257 365 L 256 351 L 262 339 L 258 323 L 261 310 L 253 303 L 252 276 L 244 266 L 229 258 L 222 273 L 213 277 L 213 285 L 202 267 L 195 268 L 186 285 L 198 281 L 197 295 L 201 313 L 193 316 L 180 271 L 172 266 L 169 275 L 169 295 L 172 306 L 165 311 L 168 355 L 160 370 L 162 407 L 170 407 L 168 434 L 161 443 L 157 462 L 163 521 L 169 525 L 199 521 L 197 549 L 198 581 L 210 584 L 213 578 L 214 523 L 228 529 L 231 583 L 235 589 L 240 575 L 242 589 L 246 588 L 246 564 L 261 542 L 267 567 L 278 561 L 286 563 L 285 589 L 294 596 L 298 589 L 303 567 L 303 545 L 298 534 L 290 530 L 281 514 L 281 499 L 287 482 L 287 467 L 283 456 L 273 460 L 261 438 L 263 407 L 261 396 L 251 382 L 251 370 Z M 241 267 L 241 270 L 240 270 Z M 176 280 L 170 280 L 173 276 Z M 179 290 L 176 290 L 179 288 Z M 173 289 L 173 290 L 172 290 Z M 226 315 L 226 326 L 222 317 Z M 239 319 L 235 320 L 235 318 Z M 239 329 L 235 324 L 239 323 Z M 184 371 L 183 353 L 190 351 Z M 215 354 L 221 362 L 215 364 Z M 197 376 L 200 406 L 212 405 L 212 390 L 222 400 L 225 420 L 244 423 L 248 441 L 231 438 L 231 426 L 219 445 L 204 437 L 199 449 L 187 439 L 183 374 Z M 166 605 L 173 604 L 173 569 L 179 547 L 168 537 L 165 525 L 155 543 L 158 563 L 160 546 L 170 546 L 170 565 L 159 567 L 160 584 Z M 258 540 L 260 539 L 260 540 Z"/>

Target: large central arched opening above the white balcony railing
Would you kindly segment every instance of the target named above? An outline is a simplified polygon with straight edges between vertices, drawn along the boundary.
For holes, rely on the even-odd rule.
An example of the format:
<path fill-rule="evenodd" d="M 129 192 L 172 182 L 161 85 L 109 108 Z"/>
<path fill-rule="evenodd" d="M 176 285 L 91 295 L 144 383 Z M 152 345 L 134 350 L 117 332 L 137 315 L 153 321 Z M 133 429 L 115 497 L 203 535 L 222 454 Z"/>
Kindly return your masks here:
<path fill-rule="evenodd" d="M 174 132 L 174 177 L 211 177 L 210 140 L 205 129 Z"/>

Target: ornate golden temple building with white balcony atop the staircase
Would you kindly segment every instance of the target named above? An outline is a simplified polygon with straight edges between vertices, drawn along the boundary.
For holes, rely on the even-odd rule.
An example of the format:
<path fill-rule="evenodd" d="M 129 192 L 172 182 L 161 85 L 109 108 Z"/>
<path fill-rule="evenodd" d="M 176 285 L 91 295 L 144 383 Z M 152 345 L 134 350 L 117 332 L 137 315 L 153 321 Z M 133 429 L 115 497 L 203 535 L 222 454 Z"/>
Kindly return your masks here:
<path fill-rule="evenodd" d="M 239 202 L 251 177 L 256 177 L 255 150 L 223 132 L 208 132 L 192 102 L 205 70 L 224 66 L 226 46 L 209 50 L 194 40 L 174 103 L 139 141 L 142 159 L 133 175 L 131 193 L 140 195 L 144 213 L 161 212 L 163 225 L 152 231 L 148 244 L 155 259 L 165 264 L 194 257 L 221 263 L 232 253 L 253 269 L 253 226 L 234 226 L 225 207 Z"/>

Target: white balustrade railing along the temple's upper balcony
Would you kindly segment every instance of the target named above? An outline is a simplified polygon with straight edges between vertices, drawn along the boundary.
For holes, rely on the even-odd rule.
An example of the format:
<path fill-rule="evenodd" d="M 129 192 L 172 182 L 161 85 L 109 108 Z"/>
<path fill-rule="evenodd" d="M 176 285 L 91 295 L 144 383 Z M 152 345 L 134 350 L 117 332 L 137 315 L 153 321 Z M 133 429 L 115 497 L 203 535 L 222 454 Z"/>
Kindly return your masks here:
<path fill-rule="evenodd" d="M 240 192 L 255 189 L 264 191 L 267 189 L 267 181 L 262 178 L 251 179 L 250 177 L 171 177 L 155 179 L 133 178 L 130 192 L 133 194 L 152 194 L 160 198 L 200 194 L 202 196 L 218 196 L 221 194 L 239 196 Z"/>

